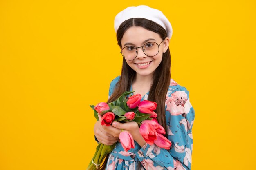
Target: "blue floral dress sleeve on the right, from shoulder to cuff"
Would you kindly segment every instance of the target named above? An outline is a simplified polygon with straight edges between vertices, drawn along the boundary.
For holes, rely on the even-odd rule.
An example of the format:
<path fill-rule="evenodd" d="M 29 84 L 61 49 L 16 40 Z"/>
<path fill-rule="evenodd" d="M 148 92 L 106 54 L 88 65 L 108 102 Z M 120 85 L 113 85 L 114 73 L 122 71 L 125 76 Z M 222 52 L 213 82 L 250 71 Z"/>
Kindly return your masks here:
<path fill-rule="evenodd" d="M 180 85 L 169 88 L 166 96 L 166 123 L 171 149 L 145 144 L 136 153 L 146 170 L 191 170 L 194 109 L 189 102 L 189 91 Z"/>

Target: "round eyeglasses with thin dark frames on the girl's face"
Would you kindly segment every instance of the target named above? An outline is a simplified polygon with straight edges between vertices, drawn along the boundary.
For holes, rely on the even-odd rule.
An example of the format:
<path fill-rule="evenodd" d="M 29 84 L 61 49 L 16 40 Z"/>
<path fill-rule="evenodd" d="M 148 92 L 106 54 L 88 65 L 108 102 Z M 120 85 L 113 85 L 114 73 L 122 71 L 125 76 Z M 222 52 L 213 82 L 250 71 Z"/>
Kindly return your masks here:
<path fill-rule="evenodd" d="M 164 40 L 162 40 L 163 42 Z M 138 48 L 142 47 L 143 53 L 148 57 L 154 57 L 159 52 L 159 46 L 162 42 L 158 45 L 156 42 L 147 42 L 143 46 L 135 47 L 135 46 L 125 46 L 121 49 L 121 54 L 125 60 L 134 60 L 138 55 Z"/>

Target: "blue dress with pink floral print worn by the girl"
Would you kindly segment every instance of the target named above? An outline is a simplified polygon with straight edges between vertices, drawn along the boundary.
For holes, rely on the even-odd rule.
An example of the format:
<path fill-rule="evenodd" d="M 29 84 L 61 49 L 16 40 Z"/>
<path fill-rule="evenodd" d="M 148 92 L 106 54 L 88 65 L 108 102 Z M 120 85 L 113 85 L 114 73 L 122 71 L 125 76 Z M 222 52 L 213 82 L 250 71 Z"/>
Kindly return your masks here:
<path fill-rule="evenodd" d="M 119 79 L 120 76 L 110 83 L 109 97 Z M 148 93 L 141 101 L 148 99 Z M 162 149 L 155 144 L 145 144 L 141 148 L 135 141 L 135 148 L 124 152 L 121 143 L 117 142 L 108 157 L 106 170 L 191 170 L 195 113 L 189 102 L 189 91 L 173 79 L 166 95 L 165 110 L 171 149 Z"/>

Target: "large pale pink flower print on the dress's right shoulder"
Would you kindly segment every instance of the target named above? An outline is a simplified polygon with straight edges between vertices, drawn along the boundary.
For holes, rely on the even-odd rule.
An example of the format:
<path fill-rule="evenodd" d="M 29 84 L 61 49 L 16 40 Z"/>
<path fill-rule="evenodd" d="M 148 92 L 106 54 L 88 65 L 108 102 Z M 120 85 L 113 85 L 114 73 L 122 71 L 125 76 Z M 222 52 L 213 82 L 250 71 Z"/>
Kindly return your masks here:
<path fill-rule="evenodd" d="M 166 110 L 174 116 L 182 115 L 183 117 L 186 117 L 186 114 L 189 113 L 189 110 L 192 107 L 185 91 L 175 91 L 171 94 L 171 97 L 167 97 L 166 104 Z"/>

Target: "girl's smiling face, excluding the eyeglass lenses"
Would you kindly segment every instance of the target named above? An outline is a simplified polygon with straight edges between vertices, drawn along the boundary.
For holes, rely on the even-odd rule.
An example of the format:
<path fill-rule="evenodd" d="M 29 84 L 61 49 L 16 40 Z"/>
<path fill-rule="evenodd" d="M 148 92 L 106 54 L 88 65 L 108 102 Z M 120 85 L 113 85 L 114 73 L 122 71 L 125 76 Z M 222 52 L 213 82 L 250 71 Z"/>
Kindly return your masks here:
<path fill-rule="evenodd" d="M 146 41 L 148 40 L 148 41 Z M 144 29 L 141 26 L 132 26 L 124 33 L 121 40 L 122 48 L 126 46 L 143 46 L 147 42 L 156 42 L 158 45 L 162 42 L 159 34 Z M 136 71 L 137 75 L 147 76 L 153 75 L 155 69 L 162 61 L 163 53 L 166 52 L 169 46 L 169 38 L 166 38 L 159 46 L 159 52 L 154 57 L 148 57 L 142 48 L 137 49 L 137 57 L 134 60 L 126 60 L 127 64 Z M 148 62 L 150 62 L 148 64 Z M 141 63 L 144 66 L 140 66 Z M 139 64 L 139 65 L 138 65 Z"/>

